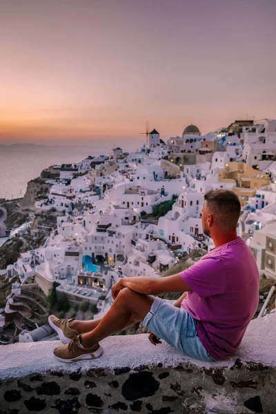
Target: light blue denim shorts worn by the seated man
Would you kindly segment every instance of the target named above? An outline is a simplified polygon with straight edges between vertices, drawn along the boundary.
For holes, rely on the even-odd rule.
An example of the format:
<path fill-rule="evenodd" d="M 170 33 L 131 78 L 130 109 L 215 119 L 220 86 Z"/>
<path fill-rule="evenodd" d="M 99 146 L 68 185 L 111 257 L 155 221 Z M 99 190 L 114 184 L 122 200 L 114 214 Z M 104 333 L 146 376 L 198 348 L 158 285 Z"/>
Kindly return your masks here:
<path fill-rule="evenodd" d="M 150 311 L 142 322 L 143 326 L 188 357 L 201 361 L 215 361 L 200 342 L 195 319 L 184 308 L 173 306 L 174 302 L 155 297 Z"/>

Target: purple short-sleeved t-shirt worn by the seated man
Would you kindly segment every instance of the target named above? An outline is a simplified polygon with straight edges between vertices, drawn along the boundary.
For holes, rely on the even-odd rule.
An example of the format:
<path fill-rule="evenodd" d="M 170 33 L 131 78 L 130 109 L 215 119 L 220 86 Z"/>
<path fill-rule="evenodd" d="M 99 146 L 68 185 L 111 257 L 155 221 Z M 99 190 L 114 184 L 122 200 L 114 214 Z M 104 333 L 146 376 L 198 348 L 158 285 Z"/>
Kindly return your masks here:
<path fill-rule="evenodd" d="M 259 270 L 246 243 L 238 237 L 214 248 L 180 273 L 193 290 L 181 306 L 196 320 L 208 353 L 225 359 L 242 342 L 259 303 Z"/>

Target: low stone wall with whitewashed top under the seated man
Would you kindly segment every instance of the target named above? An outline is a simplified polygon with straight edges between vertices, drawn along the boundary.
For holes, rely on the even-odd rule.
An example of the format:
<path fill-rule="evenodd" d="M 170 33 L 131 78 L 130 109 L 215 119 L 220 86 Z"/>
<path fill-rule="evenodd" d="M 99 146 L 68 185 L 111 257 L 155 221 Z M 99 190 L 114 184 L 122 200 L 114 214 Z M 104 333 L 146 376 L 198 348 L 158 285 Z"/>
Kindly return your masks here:
<path fill-rule="evenodd" d="M 102 342 L 99 359 L 63 364 L 59 342 L 1 346 L 0 414 L 275 414 L 276 317 L 250 323 L 224 362 L 184 357 L 147 335 Z"/>

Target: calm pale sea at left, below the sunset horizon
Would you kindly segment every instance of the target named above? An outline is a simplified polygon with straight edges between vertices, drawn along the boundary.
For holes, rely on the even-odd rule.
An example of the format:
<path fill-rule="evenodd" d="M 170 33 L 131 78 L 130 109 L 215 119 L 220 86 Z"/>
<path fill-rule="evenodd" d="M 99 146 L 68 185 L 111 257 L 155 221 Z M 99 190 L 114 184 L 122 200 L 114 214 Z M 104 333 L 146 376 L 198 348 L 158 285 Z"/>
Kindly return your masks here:
<path fill-rule="evenodd" d="M 137 143 L 126 140 L 116 141 L 116 146 L 126 151 L 137 149 Z M 79 162 L 89 155 L 111 155 L 112 148 L 113 140 L 104 141 L 104 145 L 101 141 L 95 146 L 0 146 L 0 199 L 23 197 L 28 181 L 39 177 L 43 169 L 53 164 Z"/>

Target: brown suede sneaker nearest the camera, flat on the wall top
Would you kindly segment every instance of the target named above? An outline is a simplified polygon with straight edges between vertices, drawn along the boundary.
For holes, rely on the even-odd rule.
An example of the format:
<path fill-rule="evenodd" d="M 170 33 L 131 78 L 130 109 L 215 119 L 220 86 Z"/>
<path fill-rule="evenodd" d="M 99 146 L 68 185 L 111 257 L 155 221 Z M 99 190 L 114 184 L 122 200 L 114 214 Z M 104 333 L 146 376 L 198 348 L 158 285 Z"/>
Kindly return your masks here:
<path fill-rule="evenodd" d="M 101 356 L 103 348 L 96 344 L 91 348 L 81 348 L 79 337 L 76 335 L 73 337 L 70 344 L 61 345 L 54 349 L 54 355 L 61 362 L 75 362 L 81 359 L 95 359 Z"/>

